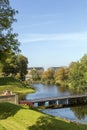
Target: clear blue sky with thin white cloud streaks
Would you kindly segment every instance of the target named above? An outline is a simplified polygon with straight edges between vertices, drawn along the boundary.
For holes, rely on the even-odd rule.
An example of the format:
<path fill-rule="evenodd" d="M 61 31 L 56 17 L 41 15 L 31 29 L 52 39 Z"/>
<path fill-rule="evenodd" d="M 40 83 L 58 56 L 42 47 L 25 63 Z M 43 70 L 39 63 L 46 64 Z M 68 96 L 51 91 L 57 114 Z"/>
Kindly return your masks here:
<path fill-rule="evenodd" d="M 87 0 L 10 0 L 28 67 L 68 66 L 87 54 Z"/>

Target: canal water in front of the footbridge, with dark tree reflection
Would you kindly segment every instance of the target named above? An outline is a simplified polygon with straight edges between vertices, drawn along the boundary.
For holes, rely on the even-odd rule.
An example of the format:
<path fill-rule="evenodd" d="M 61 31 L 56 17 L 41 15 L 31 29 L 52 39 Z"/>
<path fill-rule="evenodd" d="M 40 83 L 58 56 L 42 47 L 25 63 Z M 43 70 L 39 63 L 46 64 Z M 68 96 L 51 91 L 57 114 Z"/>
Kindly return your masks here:
<path fill-rule="evenodd" d="M 87 123 L 87 106 L 61 109 L 45 109 L 43 112 L 52 116 L 59 116 L 79 123 Z"/>

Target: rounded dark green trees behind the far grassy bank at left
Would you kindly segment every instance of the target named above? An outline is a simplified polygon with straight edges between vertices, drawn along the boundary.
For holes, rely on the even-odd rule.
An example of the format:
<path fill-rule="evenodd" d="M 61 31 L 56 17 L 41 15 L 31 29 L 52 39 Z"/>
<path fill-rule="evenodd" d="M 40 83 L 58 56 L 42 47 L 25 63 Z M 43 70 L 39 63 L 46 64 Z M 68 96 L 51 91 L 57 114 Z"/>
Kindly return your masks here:
<path fill-rule="evenodd" d="M 14 53 L 8 53 L 8 57 L 3 65 L 3 73 L 5 76 L 15 76 L 18 79 L 25 80 L 27 74 L 28 60 L 23 55 L 15 55 Z"/>

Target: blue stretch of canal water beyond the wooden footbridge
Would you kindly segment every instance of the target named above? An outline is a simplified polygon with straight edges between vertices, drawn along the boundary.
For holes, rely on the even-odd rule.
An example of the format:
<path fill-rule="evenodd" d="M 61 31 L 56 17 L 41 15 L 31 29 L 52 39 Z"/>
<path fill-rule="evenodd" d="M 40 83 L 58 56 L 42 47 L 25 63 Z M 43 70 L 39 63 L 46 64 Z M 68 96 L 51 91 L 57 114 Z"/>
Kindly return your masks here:
<path fill-rule="evenodd" d="M 43 84 L 34 84 L 33 87 L 36 89 L 36 93 L 27 94 L 26 99 L 39 99 L 45 97 L 55 97 L 55 96 L 68 96 L 70 91 L 57 87 L 55 85 L 43 85 Z"/>

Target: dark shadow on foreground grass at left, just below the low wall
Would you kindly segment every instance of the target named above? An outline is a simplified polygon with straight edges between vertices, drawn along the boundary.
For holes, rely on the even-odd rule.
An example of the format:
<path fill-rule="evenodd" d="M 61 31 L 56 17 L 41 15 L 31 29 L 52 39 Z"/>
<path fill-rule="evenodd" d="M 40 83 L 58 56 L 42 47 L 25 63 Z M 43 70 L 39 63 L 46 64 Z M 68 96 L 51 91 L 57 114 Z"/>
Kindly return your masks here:
<path fill-rule="evenodd" d="M 7 102 L 0 103 L 0 119 L 14 116 L 20 109 L 22 109 L 22 107 L 15 104 Z"/>

